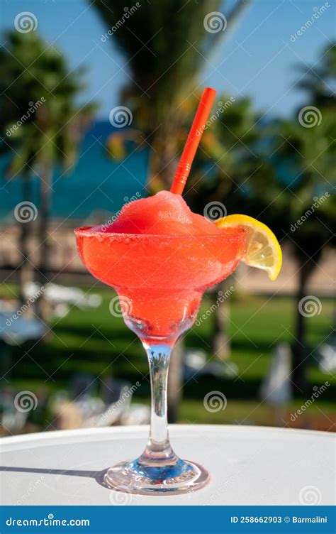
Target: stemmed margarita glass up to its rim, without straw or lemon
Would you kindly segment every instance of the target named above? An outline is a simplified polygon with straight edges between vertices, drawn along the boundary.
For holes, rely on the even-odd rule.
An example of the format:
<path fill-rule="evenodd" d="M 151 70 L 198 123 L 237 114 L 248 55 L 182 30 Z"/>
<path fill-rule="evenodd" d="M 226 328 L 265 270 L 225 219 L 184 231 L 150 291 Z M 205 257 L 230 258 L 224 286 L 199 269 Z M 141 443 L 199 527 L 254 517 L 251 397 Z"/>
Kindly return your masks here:
<path fill-rule="evenodd" d="M 138 202 L 138 201 L 137 201 Z M 211 227 L 211 224 L 209 223 Z M 108 469 L 107 486 L 138 494 L 194 491 L 206 469 L 179 459 L 167 429 L 167 374 L 179 336 L 193 325 L 204 291 L 233 272 L 245 248 L 243 229 L 213 234 L 122 234 L 75 230 L 86 268 L 119 295 L 126 325 L 140 338 L 150 366 L 150 435 L 138 459 Z"/>

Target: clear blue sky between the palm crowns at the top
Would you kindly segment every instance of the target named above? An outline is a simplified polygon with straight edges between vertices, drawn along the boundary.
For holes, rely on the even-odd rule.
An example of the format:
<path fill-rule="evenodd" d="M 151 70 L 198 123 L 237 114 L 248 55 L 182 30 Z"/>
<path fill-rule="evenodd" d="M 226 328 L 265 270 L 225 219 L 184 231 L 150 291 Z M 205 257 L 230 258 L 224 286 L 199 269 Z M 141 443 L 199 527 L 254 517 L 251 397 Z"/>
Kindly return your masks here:
<path fill-rule="evenodd" d="M 134 3 L 125 1 L 125 6 Z M 235 97 L 251 96 L 268 116 L 291 114 L 305 98 L 292 88 L 298 62 L 312 65 L 321 47 L 333 38 L 335 3 L 326 4 L 330 7 L 292 42 L 291 36 L 325 1 L 254 0 L 228 40 L 209 58 L 200 82 Z M 107 119 L 111 108 L 120 104 L 119 91 L 128 76 L 113 36 L 101 42 L 108 28 L 96 11 L 85 0 L 3 0 L 1 29 L 13 28 L 22 11 L 34 13 L 40 34 L 67 55 L 71 67 L 89 67 L 84 100 L 98 100 L 99 116 Z"/>

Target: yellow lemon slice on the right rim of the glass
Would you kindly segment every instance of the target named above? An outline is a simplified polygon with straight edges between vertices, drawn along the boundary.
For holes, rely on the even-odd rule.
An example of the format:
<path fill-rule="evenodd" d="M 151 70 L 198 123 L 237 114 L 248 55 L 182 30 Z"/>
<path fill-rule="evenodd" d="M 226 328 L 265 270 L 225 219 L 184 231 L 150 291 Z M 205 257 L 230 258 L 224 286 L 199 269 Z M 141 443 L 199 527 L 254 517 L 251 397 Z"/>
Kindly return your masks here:
<path fill-rule="evenodd" d="M 282 253 L 276 236 L 262 222 L 248 215 L 227 215 L 214 221 L 219 228 L 245 229 L 246 246 L 242 261 L 251 267 L 264 269 L 275 280 L 282 264 Z"/>

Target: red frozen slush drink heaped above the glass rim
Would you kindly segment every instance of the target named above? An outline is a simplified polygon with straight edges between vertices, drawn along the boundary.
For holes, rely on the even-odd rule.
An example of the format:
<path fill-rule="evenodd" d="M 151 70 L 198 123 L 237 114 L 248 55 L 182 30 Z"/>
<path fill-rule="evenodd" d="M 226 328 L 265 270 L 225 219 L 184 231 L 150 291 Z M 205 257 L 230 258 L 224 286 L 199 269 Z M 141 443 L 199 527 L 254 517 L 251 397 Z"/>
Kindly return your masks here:
<path fill-rule="evenodd" d="M 237 266 L 245 231 L 219 229 L 162 191 L 126 204 L 103 230 L 79 229 L 77 244 L 86 268 L 116 289 L 130 329 L 174 344 L 194 323 L 204 291 Z"/>

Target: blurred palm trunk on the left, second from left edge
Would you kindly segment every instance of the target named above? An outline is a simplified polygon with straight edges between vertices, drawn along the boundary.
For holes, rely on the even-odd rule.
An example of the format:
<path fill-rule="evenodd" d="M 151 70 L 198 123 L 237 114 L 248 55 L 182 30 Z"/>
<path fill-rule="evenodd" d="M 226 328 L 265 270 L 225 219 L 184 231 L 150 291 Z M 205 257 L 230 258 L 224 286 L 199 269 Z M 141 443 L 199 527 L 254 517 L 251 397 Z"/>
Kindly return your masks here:
<path fill-rule="evenodd" d="M 41 164 L 40 174 L 40 207 L 38 210 L 38 241 L 40 250 L 40 262 L 38 268 L 38 281 L 45 287 L 49 281 L 47 278 L 48 271 L 50 269 L 50 244 L 48 241 L 49 222 L 50 222 L 50 209 L 52 199 L 52 170 L 48 162 Z M 42 294 L 38 299 L 38 316 L 44 322 L 47 321 L 50 316 L 50 305 Z"/>

